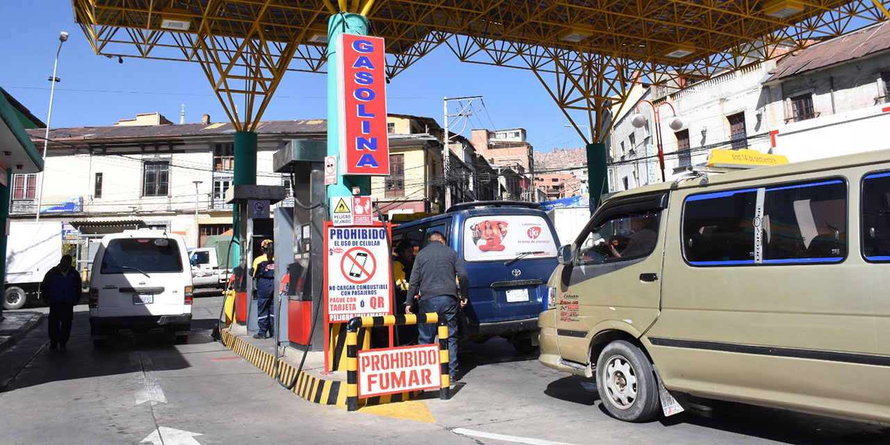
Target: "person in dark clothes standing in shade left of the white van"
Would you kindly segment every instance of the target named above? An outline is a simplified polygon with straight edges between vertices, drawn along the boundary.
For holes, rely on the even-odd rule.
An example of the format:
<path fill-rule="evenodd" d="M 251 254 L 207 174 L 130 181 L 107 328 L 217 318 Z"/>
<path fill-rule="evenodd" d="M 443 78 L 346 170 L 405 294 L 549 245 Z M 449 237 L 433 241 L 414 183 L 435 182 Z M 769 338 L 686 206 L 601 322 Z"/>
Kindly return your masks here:
<path fill-rule="evenodd" d="M 80 299 L 80 275 L 71 267 L 71 255 L 63 255 L 59 265 L 46 272 L 40 294 L 50 305 L 50 349 L 65 349 L 71 336 L 74 305 Z"/>

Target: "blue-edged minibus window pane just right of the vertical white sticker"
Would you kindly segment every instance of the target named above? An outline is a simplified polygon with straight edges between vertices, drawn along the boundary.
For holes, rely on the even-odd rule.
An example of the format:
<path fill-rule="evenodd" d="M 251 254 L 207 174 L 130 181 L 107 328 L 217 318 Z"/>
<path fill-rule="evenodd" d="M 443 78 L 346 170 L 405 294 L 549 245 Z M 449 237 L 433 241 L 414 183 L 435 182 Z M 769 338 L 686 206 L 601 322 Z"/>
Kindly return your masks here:
<path fill-rule="evenodd" d="M 840 180 L 766 188 L 763 263 L 836 262 L 846 255 Z"/>

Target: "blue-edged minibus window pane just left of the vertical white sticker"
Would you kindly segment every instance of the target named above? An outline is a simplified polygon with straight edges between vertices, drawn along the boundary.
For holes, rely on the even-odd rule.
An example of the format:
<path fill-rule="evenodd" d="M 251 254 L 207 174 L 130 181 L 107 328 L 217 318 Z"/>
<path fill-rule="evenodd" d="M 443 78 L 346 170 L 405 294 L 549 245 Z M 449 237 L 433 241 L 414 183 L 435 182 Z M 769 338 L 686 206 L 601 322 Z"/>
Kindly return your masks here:
<path fill-rule="evenodd" d="M 754 263 L 756 189 L 686 198 L 683 251 L 693 265 Z"/>

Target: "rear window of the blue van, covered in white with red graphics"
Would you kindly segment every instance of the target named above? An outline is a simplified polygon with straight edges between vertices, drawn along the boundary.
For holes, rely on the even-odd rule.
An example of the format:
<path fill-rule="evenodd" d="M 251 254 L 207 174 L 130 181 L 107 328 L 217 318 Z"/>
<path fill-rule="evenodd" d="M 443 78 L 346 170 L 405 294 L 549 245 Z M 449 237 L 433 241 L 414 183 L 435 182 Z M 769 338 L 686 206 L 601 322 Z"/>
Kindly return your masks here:
<path fill-rule="evenodd" d="M 495 214 L 464 221 L 465 261 L 509 261 L 521 255 L 556 256 L 556 242 L 543 216 Z"/>

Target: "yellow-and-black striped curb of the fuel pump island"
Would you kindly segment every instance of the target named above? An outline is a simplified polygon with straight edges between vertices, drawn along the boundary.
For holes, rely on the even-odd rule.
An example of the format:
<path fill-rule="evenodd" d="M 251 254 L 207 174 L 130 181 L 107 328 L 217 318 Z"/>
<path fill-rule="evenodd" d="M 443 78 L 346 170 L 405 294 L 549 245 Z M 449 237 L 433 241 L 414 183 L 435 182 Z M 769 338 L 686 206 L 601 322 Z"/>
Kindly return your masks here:
<path fill-rule="evenodd" d="M 257 348 L 253 344 L 247 343 L 243 338 L 232 334 L 228 329 L 222 330 L 223 344 L 235 352 L 244 360 L 254 364 L 256 368 L 260 368 L 264 373 L 272 378 L 276 378 L 275 374 L 275 356 L 269 352 L 265 352 Z M 279 381 L 289 384 L 294 381 L 296 376 L 296 368 L 285 363 L 279 362 L 278 366 Z M 323 378 L 310 376 L 305 372 L 300 372 L 296 376 L 297 381 L 291 392 L 294 392 L 300 398 L 318 403 L 320 405 L 335 405 L 346 407 L 346 382 L 339 380 L 326 380 Z M 383 395 L 380 397 L 371 397 L 361 399 L 359 404 L 362 406 L 379 405 L 383 403 L 391 403 L 396 401 L 407 401 L 415 398 L 419 392 L 405 392 Z"/>

